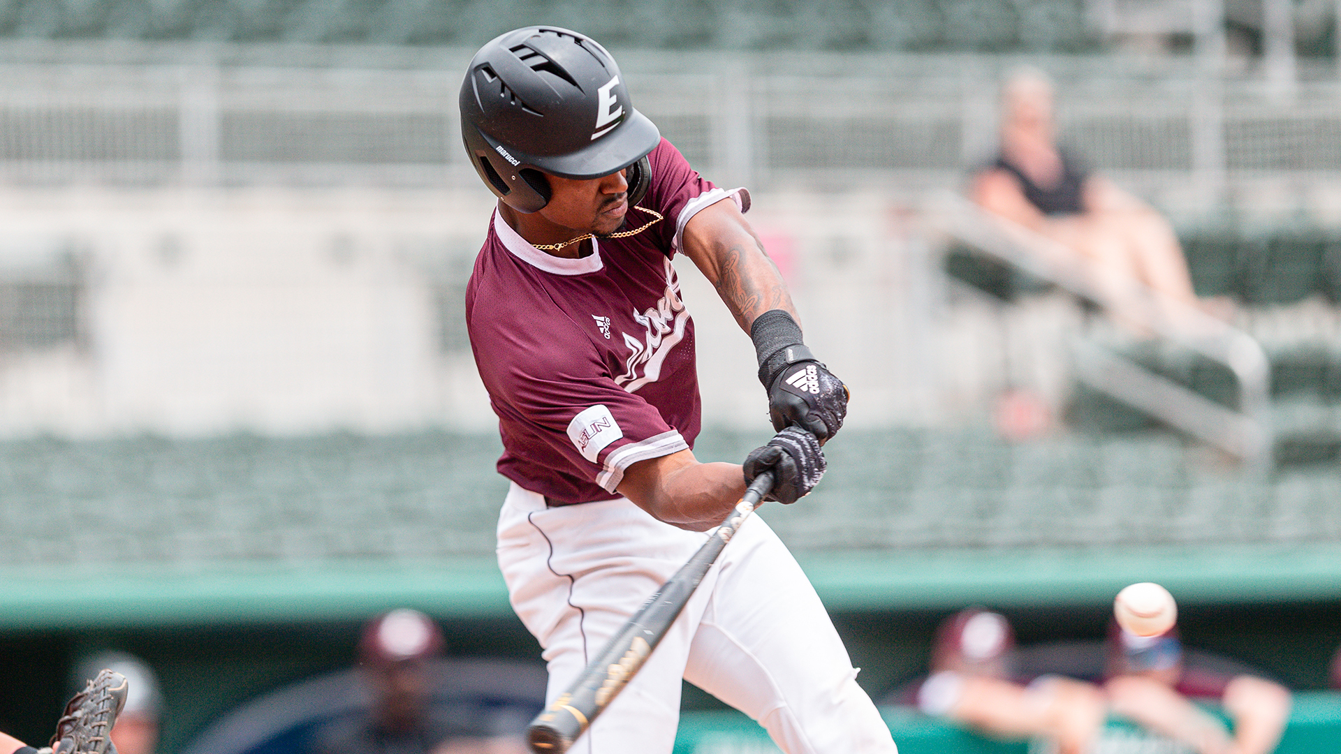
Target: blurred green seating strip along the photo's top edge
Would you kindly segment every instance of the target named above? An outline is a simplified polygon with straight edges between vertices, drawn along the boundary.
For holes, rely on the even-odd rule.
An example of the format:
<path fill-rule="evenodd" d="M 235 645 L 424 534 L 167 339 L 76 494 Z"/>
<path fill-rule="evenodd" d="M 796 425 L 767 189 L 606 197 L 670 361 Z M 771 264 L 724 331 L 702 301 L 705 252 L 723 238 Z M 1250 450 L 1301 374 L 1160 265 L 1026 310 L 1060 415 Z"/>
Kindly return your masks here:
<path fill-rule="evenodd" d="M 152 7 L 52 0 L 8 4 L 0 36 L 469 47 L 506 31 L 516 12 L 503 0 L 176 0 Z M 1075 51 L 1097 42 L 1075 0 L 843 0 L 822 8 L 782 0 L 632 7 L 603 0 L 552 20 L 607 46 L 645 48 Z"/>

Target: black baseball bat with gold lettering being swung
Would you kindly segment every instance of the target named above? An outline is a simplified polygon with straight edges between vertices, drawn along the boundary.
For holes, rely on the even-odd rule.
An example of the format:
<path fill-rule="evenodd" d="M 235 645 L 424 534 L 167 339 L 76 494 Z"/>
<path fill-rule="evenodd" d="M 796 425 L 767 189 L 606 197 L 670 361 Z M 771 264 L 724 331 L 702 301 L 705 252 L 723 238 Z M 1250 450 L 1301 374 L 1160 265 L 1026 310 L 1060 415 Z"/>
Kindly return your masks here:
<path fill-rule="evenodd" d="M 625 684 L 661 643 L 661 637 L 693 596 L 693 590 L 721 554 L 721 549 L 740 529 L 742 522 L 759 507 L 763 496 L 772 490 L 772 482 L 771 471 L 755 476 L 746 494 L 740 496 L 740 502 L 699 551 L 648 597 L 642 608 L 606 643 L 573 686 L 531 722 L 531 727 L 526 730 L 531 751 L 563 754 L 620 691 L 624 691 Z"/>

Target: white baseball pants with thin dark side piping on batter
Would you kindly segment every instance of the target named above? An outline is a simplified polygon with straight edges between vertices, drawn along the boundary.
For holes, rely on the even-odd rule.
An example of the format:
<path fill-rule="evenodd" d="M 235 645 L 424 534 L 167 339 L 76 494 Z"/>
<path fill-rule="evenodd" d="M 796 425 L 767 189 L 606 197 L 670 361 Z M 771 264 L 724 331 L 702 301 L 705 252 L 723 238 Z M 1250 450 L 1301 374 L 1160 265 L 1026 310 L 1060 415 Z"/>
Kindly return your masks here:
<path fill-rule="evenodd" d="M 498 538 L 512 608 L 544 648 L 547 703 L 705 541 L 624 498 L 548 508 L 516 484 Z M 806 574 L 751 517 L 642 669 L 570 751 L 670 754 L 684 678 L 758 720 L 787 754 L 896 754 L 856 676 Z"/>

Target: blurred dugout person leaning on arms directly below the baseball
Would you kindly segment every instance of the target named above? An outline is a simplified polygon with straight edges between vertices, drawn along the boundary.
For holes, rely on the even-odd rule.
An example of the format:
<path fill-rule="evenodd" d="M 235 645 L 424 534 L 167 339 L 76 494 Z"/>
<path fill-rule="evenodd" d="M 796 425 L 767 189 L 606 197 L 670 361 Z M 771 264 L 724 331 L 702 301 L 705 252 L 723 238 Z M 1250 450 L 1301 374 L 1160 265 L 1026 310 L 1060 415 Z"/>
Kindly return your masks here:
<path fill-rule="evenodd" d="M 1275 751 L 1290 716 L 1290 692 L 1277 683 L 1187 665 L 1176 627 L 1160 636 L 1136 636 L 1113 623 L 1105 675 L 1113 712 L 1199 754 Z M 1234 733 L 1193 699 L 1219 703 Z"/>

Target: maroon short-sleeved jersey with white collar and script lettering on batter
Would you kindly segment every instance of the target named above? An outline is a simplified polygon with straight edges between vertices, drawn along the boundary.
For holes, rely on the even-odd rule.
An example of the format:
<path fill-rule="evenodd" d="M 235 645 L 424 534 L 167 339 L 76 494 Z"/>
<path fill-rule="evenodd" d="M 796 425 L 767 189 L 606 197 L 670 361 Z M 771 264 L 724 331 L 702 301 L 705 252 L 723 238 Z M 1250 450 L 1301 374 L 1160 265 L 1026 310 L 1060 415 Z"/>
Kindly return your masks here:
<path fill-rule="evenodd" d="M 699 435 L 693 321 L 670 258 L 689 217 L 728 196 L 748 209 L 748 193 L 713 186 L 665 140 L 648 157 L 638 205 L 665 220 L 565 259 L 495 211 L 465 291 L 471 349 L 503 436 L 499 472 L 557 503 L 617 498 L 630 464 Z M 650 219 L 630 207 L 625 224 Z"/>

